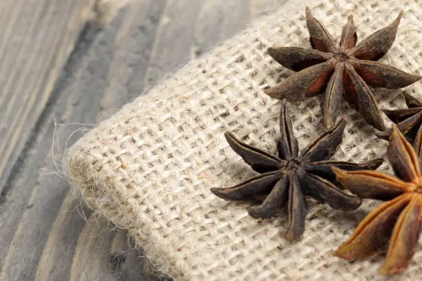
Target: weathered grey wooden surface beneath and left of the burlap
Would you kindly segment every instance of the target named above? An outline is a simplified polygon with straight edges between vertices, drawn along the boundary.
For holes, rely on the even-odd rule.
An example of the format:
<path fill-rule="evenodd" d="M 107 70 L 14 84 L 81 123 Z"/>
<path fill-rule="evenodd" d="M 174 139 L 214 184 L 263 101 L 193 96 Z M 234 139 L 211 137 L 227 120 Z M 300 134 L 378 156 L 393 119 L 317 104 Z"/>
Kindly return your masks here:
<path fill-rule="evenodd" d="M 2 281 L 159 279 L 70 189 L 63 151 L 285 0 L 133 0 L 104 28 L 80 25 L 88 2 L 0 4 Z"/>

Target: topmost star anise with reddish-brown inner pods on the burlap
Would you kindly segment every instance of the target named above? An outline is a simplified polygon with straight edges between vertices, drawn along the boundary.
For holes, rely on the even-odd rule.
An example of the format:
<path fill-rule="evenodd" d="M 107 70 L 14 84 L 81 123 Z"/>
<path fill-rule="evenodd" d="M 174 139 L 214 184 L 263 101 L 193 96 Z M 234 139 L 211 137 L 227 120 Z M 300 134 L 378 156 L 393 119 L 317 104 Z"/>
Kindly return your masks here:
<path fill-rule="evenodd" d="M 383 131 L 383 118 L 368 85 L 398 89 L 421 79 L 421 76 L 376 62 L 390 50 L 402 14 L 400 12 L 388 27 L 374 32 L 358 45 L 356 27 L 350 16 L 343 27 L 340 44 L 336 46 L 328 31 L 306 8 L 310 44 L 315 50 L 268 48 L 268 54 L 275 61 L 297 73 L 279 85 L 264 90 L 265 94 L 278 99 L 288 98 L 288 101 L 301 101 L 325 91 L 325 127 L 331 127 L 336 121 L 344 96 L 366 122 Z"/>

